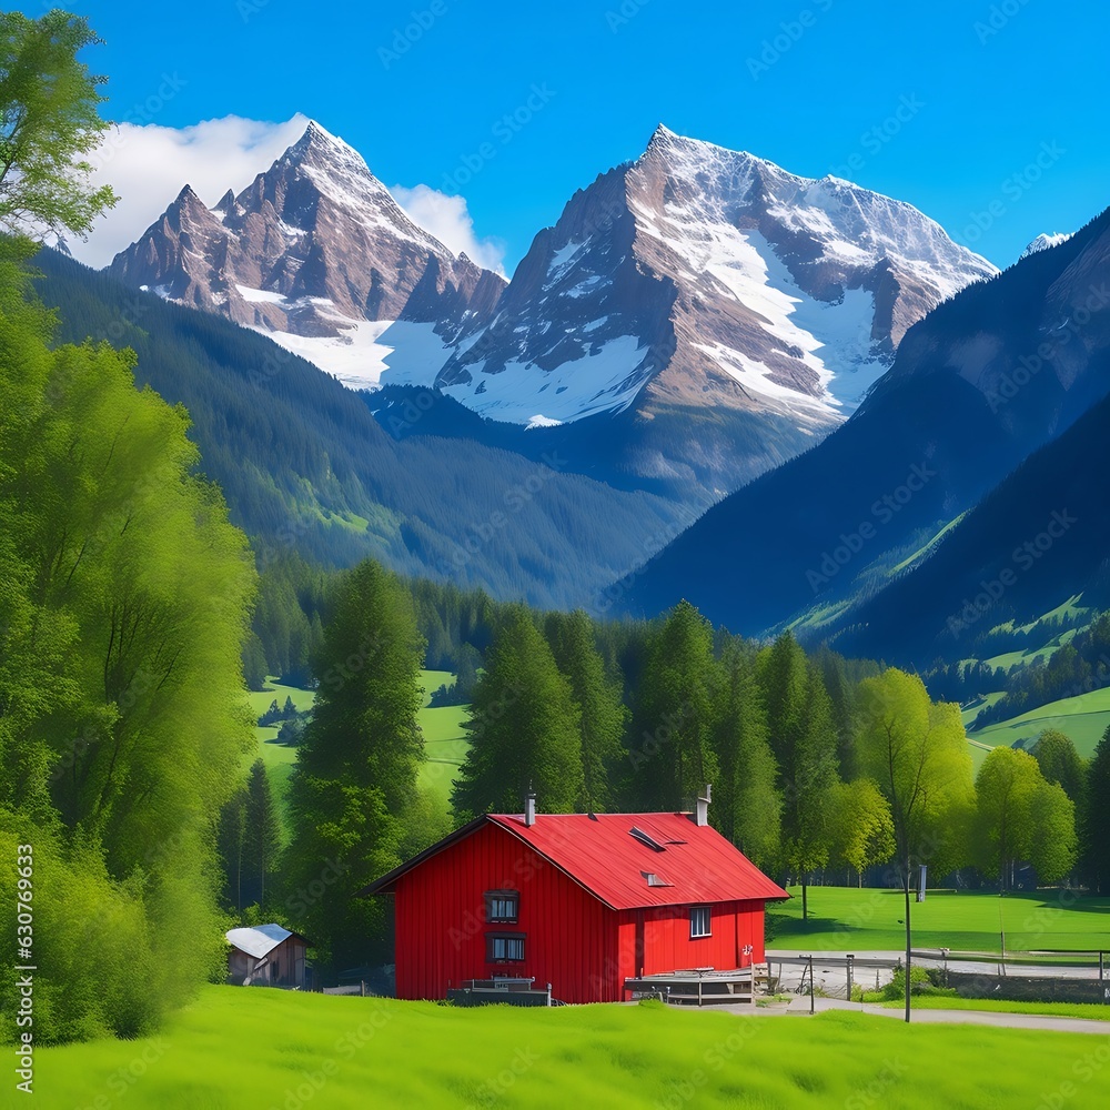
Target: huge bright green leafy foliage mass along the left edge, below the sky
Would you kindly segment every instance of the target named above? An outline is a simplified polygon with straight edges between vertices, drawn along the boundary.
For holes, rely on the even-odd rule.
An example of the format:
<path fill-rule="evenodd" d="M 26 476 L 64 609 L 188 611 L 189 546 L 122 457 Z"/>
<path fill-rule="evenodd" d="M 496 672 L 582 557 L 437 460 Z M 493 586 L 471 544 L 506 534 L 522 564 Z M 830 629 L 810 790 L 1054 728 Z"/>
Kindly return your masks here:
<path fill-rule="evenodd" d="M 134 1035 L 222 958 L 214 828 L 252 739 L 254 571 L 188 415 L 135 390 L 127 353 L 51 349 L 22 292 L 0 290 L 0 810 L 43 845 L 43 891 L 118 911 L 141 975 L 90 971 L 93 911 L 58 917 L 37 1033 Z"/>

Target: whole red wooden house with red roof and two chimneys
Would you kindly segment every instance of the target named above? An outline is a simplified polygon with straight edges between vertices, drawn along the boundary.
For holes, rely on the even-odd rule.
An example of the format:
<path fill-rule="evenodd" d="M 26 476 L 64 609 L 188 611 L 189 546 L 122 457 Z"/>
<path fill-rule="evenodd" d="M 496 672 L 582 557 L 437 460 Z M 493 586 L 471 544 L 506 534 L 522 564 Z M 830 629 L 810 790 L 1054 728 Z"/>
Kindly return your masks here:
<path fill-rule="evenodd" d="M 392 894 L 397 998 L 534 977 L 566 1002 L 625 980 L 764 960 L 764 908 L 788 898 L 690 814 L 478 817 L 362 891 Z"/>

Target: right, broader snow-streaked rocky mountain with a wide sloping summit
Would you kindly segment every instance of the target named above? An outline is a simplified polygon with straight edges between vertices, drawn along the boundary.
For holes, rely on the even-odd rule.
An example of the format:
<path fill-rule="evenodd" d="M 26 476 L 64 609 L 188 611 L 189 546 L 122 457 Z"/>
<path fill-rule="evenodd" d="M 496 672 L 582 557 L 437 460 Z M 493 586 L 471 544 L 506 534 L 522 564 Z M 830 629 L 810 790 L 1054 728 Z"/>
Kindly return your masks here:
<path fill-rule="evenodd" d="M 536 236 L 437 384 L 514 423 L 664 404 L 827 427 L 912 323 L 996 272 L 909 204 L 660 127 Z"/>

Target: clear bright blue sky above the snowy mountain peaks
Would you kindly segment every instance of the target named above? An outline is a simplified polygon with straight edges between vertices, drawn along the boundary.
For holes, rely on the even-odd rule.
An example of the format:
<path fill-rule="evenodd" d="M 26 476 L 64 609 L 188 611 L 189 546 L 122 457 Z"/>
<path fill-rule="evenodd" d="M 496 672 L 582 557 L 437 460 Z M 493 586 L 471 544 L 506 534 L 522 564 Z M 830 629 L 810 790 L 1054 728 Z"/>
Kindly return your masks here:
<path fill-rule="evenodd" d="M 87 60 L 113 119 L 303 112 L 386 184 L 465 196 L 509 271 L 660 121 L 910 201 L 999 265 L 1110 204 L 1110 13 L 1078 0 L 74 7 L 105 40 Z"/>

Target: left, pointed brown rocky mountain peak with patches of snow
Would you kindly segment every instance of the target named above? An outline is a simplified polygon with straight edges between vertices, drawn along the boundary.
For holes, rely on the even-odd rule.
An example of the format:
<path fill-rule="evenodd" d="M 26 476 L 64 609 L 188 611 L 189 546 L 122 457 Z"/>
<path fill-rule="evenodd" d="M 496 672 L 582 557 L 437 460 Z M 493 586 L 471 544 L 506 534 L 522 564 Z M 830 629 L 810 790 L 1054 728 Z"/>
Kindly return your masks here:
<path fill-rule="evenodd" d="M 375 384 L 391 347 L 442 363 L 505 285 L 416 226 L 362 157 L 314 122 L 213 209 L 185 185 L 110 271 L 270 333 L 354 386 Z M 383 346 L 386 331 L 398 339 Z"/>

